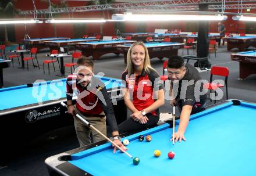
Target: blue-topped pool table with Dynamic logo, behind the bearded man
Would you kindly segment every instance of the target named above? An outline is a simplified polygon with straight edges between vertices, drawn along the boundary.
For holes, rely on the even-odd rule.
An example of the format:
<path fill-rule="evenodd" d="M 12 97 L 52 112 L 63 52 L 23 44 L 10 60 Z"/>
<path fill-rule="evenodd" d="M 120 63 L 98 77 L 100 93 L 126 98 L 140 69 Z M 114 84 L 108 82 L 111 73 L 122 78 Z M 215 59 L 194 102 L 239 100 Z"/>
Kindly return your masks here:
<path fill-rule="evenodd" d="M 126 119 L 127 108 L 120 94 L 121 80 L 102 77 L 111 96 L 118 123 Z M 66 78 L 0 89 L 1 148 L 27 145 L 46 132 L 73 124 L 60 102 L 66 102 Z M 76 97 L 74 97 L 75 101 Z M 1 150 L 1 151 L 5 151 Z"/>

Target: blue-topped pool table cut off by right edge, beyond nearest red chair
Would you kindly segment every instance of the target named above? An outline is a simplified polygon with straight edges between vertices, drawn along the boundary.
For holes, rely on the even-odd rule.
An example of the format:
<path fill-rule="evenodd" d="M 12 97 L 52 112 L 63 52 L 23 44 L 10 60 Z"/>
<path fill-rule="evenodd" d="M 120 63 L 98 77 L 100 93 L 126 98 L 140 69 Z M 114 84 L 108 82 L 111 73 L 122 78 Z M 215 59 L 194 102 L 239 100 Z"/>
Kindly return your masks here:
<path fill-rule="evenodd" d="M 256 51 L 233 53 L 231 59 L 239 62 L 239 79 L 244 80 L 256 74 Z"/>

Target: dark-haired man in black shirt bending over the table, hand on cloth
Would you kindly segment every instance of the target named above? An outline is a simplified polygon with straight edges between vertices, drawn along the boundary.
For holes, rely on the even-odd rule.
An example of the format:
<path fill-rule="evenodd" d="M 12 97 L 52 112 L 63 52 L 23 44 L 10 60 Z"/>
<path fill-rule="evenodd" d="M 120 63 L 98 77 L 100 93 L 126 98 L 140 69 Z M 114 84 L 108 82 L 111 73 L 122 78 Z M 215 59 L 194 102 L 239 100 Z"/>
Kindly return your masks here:
<path fill-rule="evenodd" d="M 180 56 L 168 60 L 168 78 L 170 80 L 170 105 L 177 105 L 180 110 L 179 128 L 175 132 L 175 142 L 186 141 L 184 133 L 189 124 L 190 114 L 204 110 L 207 90 L 203 88 L 204 80 L 199 72 L 189 63 L 184 64 Z M 172 139 L 171 139 L 172 140 Z"/>

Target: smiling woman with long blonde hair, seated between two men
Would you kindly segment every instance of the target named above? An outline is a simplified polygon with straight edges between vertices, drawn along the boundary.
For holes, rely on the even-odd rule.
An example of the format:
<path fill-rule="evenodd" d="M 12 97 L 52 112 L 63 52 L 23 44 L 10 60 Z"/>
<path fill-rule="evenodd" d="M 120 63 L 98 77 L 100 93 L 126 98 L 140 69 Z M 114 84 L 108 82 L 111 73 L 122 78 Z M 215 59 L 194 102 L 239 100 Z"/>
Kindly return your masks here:
<path fill-rule="evenodd" d="M 126 82 L 123 94 L 130 118 L 119 124 L 120 132 L 144 130 L 158 123 L 158 108 L 165 103 L 159 74 L 150 65 L 150 56 L 143 42 L 135 42 L 127 53 L 127 67 L 122 74 Z"/>

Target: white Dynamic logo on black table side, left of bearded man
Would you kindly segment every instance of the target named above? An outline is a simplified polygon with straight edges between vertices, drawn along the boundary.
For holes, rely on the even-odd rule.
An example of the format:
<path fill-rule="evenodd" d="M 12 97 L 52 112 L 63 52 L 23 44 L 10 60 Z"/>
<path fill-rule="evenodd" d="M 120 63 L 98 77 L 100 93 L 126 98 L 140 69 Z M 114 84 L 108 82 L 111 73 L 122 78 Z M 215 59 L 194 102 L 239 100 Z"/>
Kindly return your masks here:
<path fill-rule="evenodd" d="M 48 109 L 44 111 L 37 111 L 33 109 L 26 113 L 25 120 L 27 123 L 34 123 L 37 120 L 53 116 L 59 116 L 60 114 L 61 107 L 54 107 L 54 109 Z"/>

